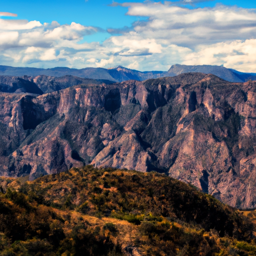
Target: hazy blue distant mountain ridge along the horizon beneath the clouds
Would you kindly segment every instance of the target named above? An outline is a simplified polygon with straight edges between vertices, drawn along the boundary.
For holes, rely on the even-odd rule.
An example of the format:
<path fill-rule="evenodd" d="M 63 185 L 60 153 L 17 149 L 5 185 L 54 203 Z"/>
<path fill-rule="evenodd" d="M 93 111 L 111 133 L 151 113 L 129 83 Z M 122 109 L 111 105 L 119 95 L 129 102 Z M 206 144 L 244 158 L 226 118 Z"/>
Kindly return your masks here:
<path fill-rule="evenodd" d="M 247 80 L 256 80 L 256 73 L 244 73 L 237 70 L 216 65 L 172 65 L 168 71 L 138 71 L 123 66 L 113 68 L 85 67 L 81 69 L 69 67 L 54 68 L 34 68 L 34 67 L 12 67 L 0 65 L 0 75 L 11 76 L 38 76 L 47 75 L 60 77 L 64 75 L 73 75 L 89 79 L 105 79 L 113 82 L 122 82 L 127 80 L 146 80 L 165 76 L 176 76 L 181 73 L 201 72 L 211 73 L 226 81 L 245 82 Z"/>

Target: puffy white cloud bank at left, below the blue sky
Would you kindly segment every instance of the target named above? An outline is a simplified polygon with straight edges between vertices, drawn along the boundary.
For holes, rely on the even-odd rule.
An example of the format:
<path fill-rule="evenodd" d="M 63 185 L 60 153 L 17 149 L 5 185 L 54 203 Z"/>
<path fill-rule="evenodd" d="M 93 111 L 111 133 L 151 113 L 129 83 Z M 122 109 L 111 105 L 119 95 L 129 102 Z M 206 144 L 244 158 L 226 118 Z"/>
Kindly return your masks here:
<path fill-rule="evenodd" d="M 95 43 L 78 42 L 98 30 L 75 22 L 60 25 L 56 21 L 41 24 L 36 20 L 0 19 L 1 64 L 46 67 L 62 61 L 63 65 L 70 66 L 79 59 L 75 56 L 77 52 L 95 48 Z"/>

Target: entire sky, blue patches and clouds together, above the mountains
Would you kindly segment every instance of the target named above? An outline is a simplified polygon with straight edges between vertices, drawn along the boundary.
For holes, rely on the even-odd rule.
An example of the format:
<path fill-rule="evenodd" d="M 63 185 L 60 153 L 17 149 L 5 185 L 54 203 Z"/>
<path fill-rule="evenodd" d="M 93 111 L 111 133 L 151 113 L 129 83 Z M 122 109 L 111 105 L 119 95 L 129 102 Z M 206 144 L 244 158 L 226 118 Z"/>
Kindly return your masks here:
<path fill-rule="evenodd" d="M 0 0 L 0 65 L 256 72 L 256 1 Z"/>

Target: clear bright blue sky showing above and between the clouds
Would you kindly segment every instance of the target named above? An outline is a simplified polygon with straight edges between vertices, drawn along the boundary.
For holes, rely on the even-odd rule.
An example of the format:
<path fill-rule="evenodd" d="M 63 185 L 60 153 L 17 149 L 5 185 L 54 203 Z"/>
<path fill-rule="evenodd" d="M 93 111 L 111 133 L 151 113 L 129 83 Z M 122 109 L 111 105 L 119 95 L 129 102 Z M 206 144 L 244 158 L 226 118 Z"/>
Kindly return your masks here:
<path fill-rule="evenodd" d="M 143 1 L 129 0 L 128 2 Z M 86 26 L 98 26 L 103 29 L 130 26 L 132 22 L 140 19 L 139 16 L 125 15 L 127 8 L 109 6 L 112 2 L 112 0 L 73 0 L 71 3 L 69 0 L 0 0 L 0 6 L 1 11 L 16 13 L 16 19 L 38 20 L 41 23 L 50 23 L 52 20 L 56 20 L 60 24 L 76 22 Z M 118 2 L 123 3 L 125 1 Z M 252 0 L 210 0 L 185 6 L 190 8 L 213 7 L 218 3 L 237 5 L 244 8 L 256 8 L 256 2 Z M 87 36 L 89 38 L 86 39 L 87 41 L 103 41 L 109 36 L 109 33 L 102 31 Z"/>

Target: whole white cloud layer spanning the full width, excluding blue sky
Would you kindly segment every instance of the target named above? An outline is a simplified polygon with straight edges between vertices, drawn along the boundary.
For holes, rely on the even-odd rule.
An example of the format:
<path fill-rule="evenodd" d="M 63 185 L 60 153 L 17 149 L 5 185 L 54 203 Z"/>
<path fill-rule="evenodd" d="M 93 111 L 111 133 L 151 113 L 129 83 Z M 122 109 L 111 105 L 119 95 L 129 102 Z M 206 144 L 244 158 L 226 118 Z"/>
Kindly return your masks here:
<path fill-rule="evenodd" d="M 121 64 L 140 70 L 167 70 L 174 63 L 224 64 L 256 72 L 256 9 L 186 8 L 170 1 L 118 5 L 143 20 L 109 28 L 112 35 L 103 43 L 86 42 L 86 35 L 101 31 L 97 27 L 0 18 L 0 63 L 77 68 Z"/>

